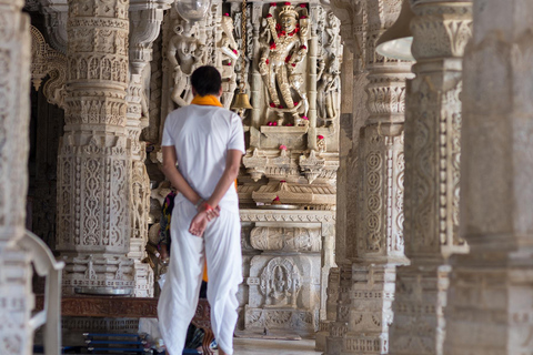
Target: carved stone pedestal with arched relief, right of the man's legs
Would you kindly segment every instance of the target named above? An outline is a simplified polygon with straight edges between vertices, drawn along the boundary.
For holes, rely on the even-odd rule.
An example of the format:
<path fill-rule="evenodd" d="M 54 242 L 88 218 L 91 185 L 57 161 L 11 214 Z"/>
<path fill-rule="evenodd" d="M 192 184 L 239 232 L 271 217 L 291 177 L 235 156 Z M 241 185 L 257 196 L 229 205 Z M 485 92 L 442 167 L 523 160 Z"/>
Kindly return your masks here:
<path fill-rule="evenodd" d="M 244 261 L 239 294 L 248 334 L 312 336 L 332 260 L 334 213 L 241 210 L 243 235 L 255 251 Z M 330 256 L 331 255 L 331 256 Z M 324 263 L 325 261 L 325 263 Z"/>

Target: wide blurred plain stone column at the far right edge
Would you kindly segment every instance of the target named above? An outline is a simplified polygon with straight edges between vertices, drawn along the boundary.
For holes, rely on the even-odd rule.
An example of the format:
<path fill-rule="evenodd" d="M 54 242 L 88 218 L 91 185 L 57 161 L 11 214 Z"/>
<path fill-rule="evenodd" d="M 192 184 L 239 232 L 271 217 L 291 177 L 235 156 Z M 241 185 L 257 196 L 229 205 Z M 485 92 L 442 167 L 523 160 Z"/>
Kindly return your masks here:
<path fill-rule="evenodd" d="M 531 1 L 473 2 L 464 53 L 460 235 L 444 354 L 531 354 Z M 472 346 L 472 345 L 475 346 Z"/>

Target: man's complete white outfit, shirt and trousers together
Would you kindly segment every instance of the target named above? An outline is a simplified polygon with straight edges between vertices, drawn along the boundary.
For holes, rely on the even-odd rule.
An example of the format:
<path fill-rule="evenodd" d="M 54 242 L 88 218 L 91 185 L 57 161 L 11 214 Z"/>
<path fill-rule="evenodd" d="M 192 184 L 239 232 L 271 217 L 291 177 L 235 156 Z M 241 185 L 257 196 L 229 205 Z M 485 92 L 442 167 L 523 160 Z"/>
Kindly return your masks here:
<path fill-rule="evenodd" d="M 175 146 L 181 174 L 208 199 L 225 169 L 228 150 L 244 152 L 241 120 L 222 108 L 191 104 L 169 114 L 162 145 Z M 198 237 L 188 231 L 197 214 L 194 205 L 182 194 L 174 200 L 171 260 L 158 305 L 160 329 L 170 355 L 181 355 L 183 351 L 187 328 L 198 304 L 204 257 L 213 333 L 219 346 L 233 353 L 237 291 L 242 282 L 241 225 L 234 185 L 219 205 L 220 216 Z"/>

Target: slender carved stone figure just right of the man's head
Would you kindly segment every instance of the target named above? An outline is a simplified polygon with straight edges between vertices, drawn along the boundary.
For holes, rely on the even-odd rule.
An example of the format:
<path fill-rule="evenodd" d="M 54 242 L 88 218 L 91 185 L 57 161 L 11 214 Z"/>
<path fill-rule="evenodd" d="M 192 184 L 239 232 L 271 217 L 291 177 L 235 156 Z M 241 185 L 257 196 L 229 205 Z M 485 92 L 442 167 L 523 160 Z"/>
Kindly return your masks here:
<path fill-rule="evenodd" d="M 239 59 L 239 51 L 233 37 L 233 19 L 228 13 L 222 17 L 220 27 L 222 32 L 218 44 L 220 55 L 217 67 L 222 75 L 223 92 L 221 101 L 224 108 L 229 109 L 237 89 L 237 73 L 234 68 Z"/>

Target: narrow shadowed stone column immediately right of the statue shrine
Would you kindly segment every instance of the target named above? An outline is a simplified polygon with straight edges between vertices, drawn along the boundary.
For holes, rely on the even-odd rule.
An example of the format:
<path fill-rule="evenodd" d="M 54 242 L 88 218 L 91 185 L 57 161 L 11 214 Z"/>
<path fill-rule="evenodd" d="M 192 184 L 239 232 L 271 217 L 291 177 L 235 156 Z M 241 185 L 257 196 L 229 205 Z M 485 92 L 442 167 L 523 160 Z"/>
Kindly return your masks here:
<path fill-rule="evenodd" d="M 325 354 L 339 355 L 342 352 L 343 338 L 348 332 L 350 305 L 351 305 L 351 288 L 352 288 L 352 264 L 356 256 L 356 243 L 359 236 L 360 214 L 359 214 L 359 190 L 361 187 L 361 172 L 359 169 L 359 131 L 369 116 L 366 103 L 366 88 L 368 73 L 364 72 L 364 43 L 365 34 L 363 32 L 366 17 L 364 12 L 363 3 L 365 1 L 333 1 L 332 10 L 335 16 L 341 20 L 341 36 L 345 43 L 345 47 L 353 53 L 352 70 L 343 70 L 343 78 L 346 81 L 352 81 L 353 100 L 346 100 L 342 104 L 343 112 L 350 112 L 341 116 L 341 132 L 346 130 L 346 140 L 350 141 L 343 144 L 343 135 L 341 133 L 341 154 L 344 153 L 342 149 L 348 149 L 345 161 L 341 160 L 341 169 L 343 163 L 345 164 L 345 203 L 338 207 L 338 219 L 341 219 L 338 223 L 338 227 L 342 231 L 338 234 L 336 239 L 336 264 L 338 277 L 335 274 L 331 274 L 330 277 L 336 281 L 334 286 L 338 287 L 338 293 L 334 295 L 336 301 L 335 318 L 329 324 Z M 344 59 L 345 60 L 345 59 Z M 345 68 L 343 68 L 345 69 Z M 353 73 L 353 74 L 352 74 Z M 343 81 L 343 85 L 345 82 Z M 346 88 L 346 87 L 344 87 Z M 350 103 L 345 106 L 345 103 Z M 344 126 L 343 124 L 346 126 Z M 341 155 L 342 156 L 342 155 Z M 341 171 L 342 173 L 342 171 Z M 342 176 L 342 175 L 341 175 Z M 342 189 L 342 178 L 339 182 L 340 189 Z M 338 199 L 342 199 L 343 190 L 338 193 Z M 342 207 L 344 206 L 344 209 Z M 339 215 L 341 214 L 341 215 Z M 342 214 L 345 214 L 343 216 Z M 343 217 L 345 222 L 343 223 Z M 334 270 L 335 272 L 335 270 Z M 333 286 L 333 285 L 332 285 Z"/>

